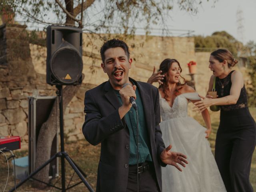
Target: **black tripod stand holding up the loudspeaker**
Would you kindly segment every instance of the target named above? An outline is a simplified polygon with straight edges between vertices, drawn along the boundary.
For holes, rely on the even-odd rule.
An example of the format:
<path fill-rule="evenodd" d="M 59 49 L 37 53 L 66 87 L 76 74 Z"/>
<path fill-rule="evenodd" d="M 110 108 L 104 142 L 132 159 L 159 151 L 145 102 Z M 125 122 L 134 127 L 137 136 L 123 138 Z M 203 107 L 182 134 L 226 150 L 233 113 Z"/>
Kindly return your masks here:
<path fill-rule="evenodd" d="M 57 95 L 59 98 L 59 109 L 60 109 L 60 147 L 61 151 L 56 153 L 54 156 L 52 156 L 48 161 L 46 161 L 42 166 L 40 166 L 37 170 L 35 170 L 33 173 L 31 173 L 26 179 L 22 180 L 16 188 L 20 187 L 22 184 L 24 184 L 27 180 L 29 179 L 34 179 L 38 182 L 42 182 L 48 186 L 52 186 L 54 188 L 57 188 L 59 190 L 62 190 L 62 192 L 65 192 L 66 190 L 80 184 L 84 183 L 85 186 L 88 188 L 90 192 L 94 192 L 92 187 L 88 184 L 88 182 L 85 180 L 86 174 L 73 162 L 73 160 L 68 156 L 68 153 L 65 152 L 64 150 L 64 126 L 63 126 L 63 93 L 62 93 L 62 85 L 56 86 L 58 88 Z M 36 178 L 33 178 L 35 174 L 37 174 L 40 170 L 42 170 L 44 167 L 46 167 L 50 162 L 52 162 L 55 158 L 60 157 L 61 158 L 61 183 L 62 183 L 62 188 L 56 187 L 52 184 L 48 184 L 46 182 L 40 181 Z M 70 166 L 74 169 L 76 174 L 78 174 L 79 178 L 81 179 L 80 182 L 66 188 L 65 184 L 65 159 L 69 162 Z M 9 192 L 12 192 L 16 190 L 15 188 L 12 188 Z"/>

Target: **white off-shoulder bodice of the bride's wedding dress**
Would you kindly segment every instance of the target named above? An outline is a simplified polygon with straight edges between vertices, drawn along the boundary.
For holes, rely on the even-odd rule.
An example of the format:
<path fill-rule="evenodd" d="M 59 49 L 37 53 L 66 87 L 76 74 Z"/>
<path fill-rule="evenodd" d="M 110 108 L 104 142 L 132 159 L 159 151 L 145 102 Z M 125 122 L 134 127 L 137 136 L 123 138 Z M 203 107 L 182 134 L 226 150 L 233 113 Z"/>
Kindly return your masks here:
<path fill-rule="evenodd" d="M 200 100 L 198 93 L 183 93 L 174 99 L 172 107 L 160 96 L 160 112 L 163 121 L 188 116 L 188 100 Z"/>

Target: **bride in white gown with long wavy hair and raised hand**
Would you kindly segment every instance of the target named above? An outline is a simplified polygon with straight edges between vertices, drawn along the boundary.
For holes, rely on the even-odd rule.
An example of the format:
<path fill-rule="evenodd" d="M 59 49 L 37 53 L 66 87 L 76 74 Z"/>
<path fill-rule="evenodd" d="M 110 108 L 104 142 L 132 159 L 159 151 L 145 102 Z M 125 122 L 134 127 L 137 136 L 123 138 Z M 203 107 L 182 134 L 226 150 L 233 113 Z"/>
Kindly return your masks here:
<path fill-rule="evenodd" d="M 154 69 L 155 70 L 155 69 Z M 180 83 L 182 69 L 175 59 L 165 59 L 148 83 L 159 82 L 162 138 L 174 151 L 190 160 L 183 172 L 162 168 L 163 192 L 226 192 L 207 138 L 211 132 L 208 110 L 202 112 L 206 128 L 187 114 L 188 102 L 200 100 L 198 93 Z M 184 79 L 184 78 L 183 78 Z"/>

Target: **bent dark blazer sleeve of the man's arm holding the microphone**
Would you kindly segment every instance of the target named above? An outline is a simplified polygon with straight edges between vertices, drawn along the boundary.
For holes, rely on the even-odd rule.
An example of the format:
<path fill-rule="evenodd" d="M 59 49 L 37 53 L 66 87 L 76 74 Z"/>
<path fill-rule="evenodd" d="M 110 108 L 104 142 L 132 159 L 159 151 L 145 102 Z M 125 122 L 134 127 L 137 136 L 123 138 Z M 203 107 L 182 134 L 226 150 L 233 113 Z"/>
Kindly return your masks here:
<path fill-rule="evenodd" d="M 125 128 L 125 122 L 120 119 L 118 109 L 108 116 L 102 117 L 100 109 L 89 91 L 85 94 L 84 106 L 86 115 L 82 130 L 84 137 L 90 144 L 97 145 L 108 136 Z"/>

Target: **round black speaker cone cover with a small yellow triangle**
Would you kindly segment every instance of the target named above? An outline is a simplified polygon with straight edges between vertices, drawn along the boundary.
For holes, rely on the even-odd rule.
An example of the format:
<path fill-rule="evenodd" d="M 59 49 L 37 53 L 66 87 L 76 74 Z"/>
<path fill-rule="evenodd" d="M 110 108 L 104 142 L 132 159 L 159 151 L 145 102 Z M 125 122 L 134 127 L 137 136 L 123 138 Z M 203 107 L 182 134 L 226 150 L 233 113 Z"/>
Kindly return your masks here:
<path fill-rule="evenodd" d="M 57 80 L 72 84 L 77 82 L 82 74 L 83 61 L 76 49 L 62 47 L 53 54 L 50 66 Z"/>

